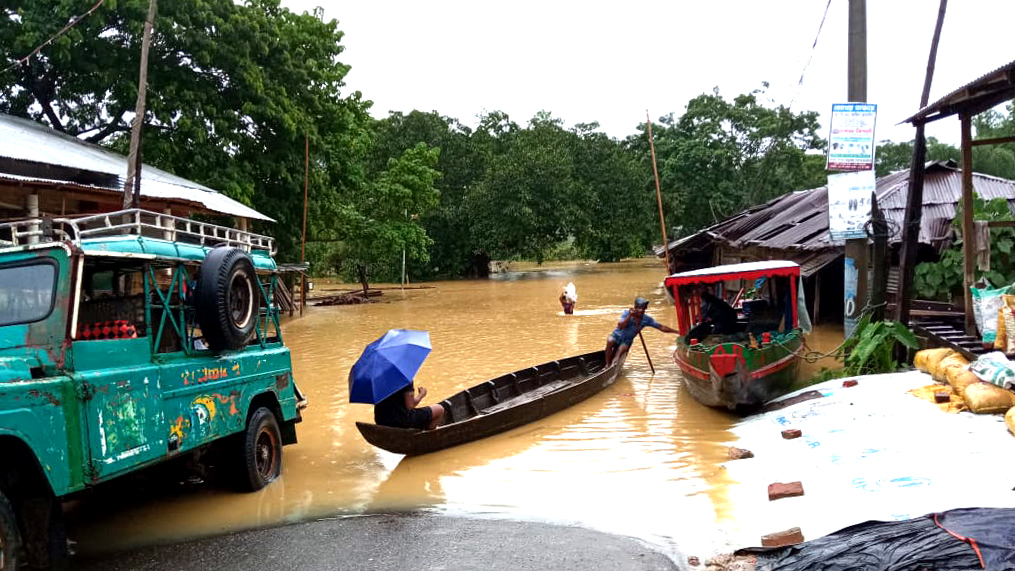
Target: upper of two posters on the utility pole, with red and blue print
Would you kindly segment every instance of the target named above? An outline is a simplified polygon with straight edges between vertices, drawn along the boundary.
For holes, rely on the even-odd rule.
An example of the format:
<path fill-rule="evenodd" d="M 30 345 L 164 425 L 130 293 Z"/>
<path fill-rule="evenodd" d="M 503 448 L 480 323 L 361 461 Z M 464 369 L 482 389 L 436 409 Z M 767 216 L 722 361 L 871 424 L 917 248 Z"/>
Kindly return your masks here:
<path fill-rule="evenodd" d="M 875 103 L 834 103 L 828 135 L 828 170 L 874 169 Z"/>

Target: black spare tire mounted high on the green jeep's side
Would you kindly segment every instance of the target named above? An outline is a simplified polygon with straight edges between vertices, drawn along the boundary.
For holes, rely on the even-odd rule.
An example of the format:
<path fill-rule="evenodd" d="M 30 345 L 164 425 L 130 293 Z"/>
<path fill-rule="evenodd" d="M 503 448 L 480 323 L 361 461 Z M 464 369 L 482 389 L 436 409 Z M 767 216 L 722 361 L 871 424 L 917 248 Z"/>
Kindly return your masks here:
<path fill-rule="evenodd" d="M 214 351 L 247 345 L 257 327 L 261 307 L 254 262 L 246 252 L 212 248 L 201 264 L 194 306 L 205 343 Z"/>

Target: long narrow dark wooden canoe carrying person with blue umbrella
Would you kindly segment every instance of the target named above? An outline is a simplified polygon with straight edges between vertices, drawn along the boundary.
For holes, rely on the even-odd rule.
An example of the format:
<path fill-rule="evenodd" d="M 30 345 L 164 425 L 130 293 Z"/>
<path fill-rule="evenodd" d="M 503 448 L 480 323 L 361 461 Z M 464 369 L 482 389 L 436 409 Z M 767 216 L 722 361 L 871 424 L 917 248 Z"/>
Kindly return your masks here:
<path fill-rule="evenodd" d="M 603 351 L 550 361 L 498 376 L 443 401 L 434 430 L 357 422 L 367 442 L 398 454 L 425 454 L 498 434 L 581 403 L 613 384 L 623 360 L 604 367 Z"/>

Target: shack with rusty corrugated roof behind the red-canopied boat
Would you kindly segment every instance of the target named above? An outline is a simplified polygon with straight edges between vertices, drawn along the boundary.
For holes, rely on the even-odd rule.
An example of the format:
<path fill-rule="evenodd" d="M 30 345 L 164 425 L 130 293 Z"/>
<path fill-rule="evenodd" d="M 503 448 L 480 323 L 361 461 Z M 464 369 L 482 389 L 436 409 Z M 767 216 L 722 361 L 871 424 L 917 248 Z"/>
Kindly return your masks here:
<path fill-rule="evenodd" d="M 925 193 L 918 261 L 934 261 L 951 243 L 950 224 L 962 196 L 962 170 L 953 161 L 931 162 L 924 169 Z M 985 199 L 1004 198 L 1015 211 L 1015 181 L 972 173 L 975 192 Z M 896 289 L 898 248 L 905 216 L 909 170 L 877 180 L 878 205 L 890 228 Z M 815 323 L 837 320 L 842 312 L 841 244 L 828 235 L 828 189 L 821 187 L 779 197 L 669 244 L 673 271 L 756 260 L 791 260 L 800 265 Z M 662 248 L 657 249 L 662 256 Z M 839 261 L 837 264 L 833 262 Z M 915 311 L 915 315 L 922 310 Z"/>

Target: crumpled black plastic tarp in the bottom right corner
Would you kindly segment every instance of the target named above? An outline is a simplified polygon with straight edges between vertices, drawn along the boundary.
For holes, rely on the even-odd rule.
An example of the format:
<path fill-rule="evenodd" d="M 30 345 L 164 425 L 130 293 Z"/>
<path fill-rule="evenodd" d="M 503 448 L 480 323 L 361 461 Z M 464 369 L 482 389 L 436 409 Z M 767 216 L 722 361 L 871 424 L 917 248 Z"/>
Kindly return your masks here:
<path fill-rule="evenodd" d="M 788 548 L 750 548 L 759 571 L 1015 570 L 1015 509 L 963 508 L 867 521 Z"/>

